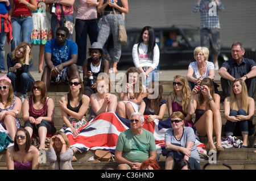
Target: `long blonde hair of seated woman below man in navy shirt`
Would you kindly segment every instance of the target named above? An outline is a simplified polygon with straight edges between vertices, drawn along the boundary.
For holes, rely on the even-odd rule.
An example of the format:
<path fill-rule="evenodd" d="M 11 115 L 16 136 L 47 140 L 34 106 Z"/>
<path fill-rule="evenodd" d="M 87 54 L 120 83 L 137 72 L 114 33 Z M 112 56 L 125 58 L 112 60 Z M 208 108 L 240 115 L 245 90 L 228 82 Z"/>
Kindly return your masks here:
<path fill-rule="evenodd" d="M 233 85 L 235 82 L 240 82 L 241 86 L 242 86 L 242 106 L 241 108 L 243 110 L 245 110 L 245 112 L 248 112 L 248 94 L 247 94 L 247 87 L 246 87 L 246 83 L 245 81 L 243 81 L 243 79 L 241 78 L 237 78 L 234 79 L 234 81 L 232 82 L 232 86 L 231 86 L 231 91 L 230 91 L 230 108 L 232 110 L 238 110 L 238 105 L 237 105 L 237 96 L 234 93 L 233 90 Z"/>

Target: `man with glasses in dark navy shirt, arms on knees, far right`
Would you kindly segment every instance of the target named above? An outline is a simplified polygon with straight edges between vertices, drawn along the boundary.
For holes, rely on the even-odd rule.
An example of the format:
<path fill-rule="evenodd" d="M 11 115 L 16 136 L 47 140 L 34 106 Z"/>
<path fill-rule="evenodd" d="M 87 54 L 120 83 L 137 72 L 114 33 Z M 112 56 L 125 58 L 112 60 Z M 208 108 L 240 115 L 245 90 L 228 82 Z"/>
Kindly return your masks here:
<path fill-rule="evenodd" d="M 232 59 L 224 62 L 218 71 L 221 76 L 221 87 L 224 97 L 230 96 L 231 84 L 234 79 L 241 78 L 245 81 L 248 95 L 254 98 L 256 87 L 256 63 L 244 58 L 245 49 L 241 42 L 232 44 Z"/>

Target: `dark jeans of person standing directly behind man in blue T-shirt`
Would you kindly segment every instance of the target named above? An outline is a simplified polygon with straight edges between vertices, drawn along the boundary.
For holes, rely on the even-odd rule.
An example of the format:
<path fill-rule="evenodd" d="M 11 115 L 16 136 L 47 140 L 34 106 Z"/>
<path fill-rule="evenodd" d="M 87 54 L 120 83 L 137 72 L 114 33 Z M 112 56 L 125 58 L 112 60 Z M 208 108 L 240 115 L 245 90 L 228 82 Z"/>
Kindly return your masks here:
<path fill-rule="evenodd" d="M 65 16 L 65 20 L 73 23 L 73 22 L 74 22 L 74 20 L 73 20 L 73 15 L 67 15 L 67 16 Z M 52 18 L 51 18 L 51 28 L 52 28 L 52 38 L 53 38 L 53 39 L 56 38 L 56 31 L 57 31 L 57 28 L 58 28 L 58 27 L 61 27 L 61 26 L 64 26 L 63 17 L 62 17 L 62 16 L 60 17 L 59 26 L 58 26 L 58 19 L 57 19 L 57 16 L 52 16 Z M 72 41 L 72 40 L 73 40 L 73 34 L 72 34 L 72 35 L 69 35 L 68 39 Z"/>

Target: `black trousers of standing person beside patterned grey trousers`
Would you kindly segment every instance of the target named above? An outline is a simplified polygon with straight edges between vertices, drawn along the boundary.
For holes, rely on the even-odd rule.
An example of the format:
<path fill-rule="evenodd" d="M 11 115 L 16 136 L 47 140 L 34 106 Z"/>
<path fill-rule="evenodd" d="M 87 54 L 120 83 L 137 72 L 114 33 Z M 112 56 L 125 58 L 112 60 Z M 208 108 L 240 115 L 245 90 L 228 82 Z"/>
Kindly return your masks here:
<path fill-rule="evenodd" d="M 97 41 L 98 23 L 96 19 L 76 19 L 76 44 L 78 47 L 77 65 L 82 66 L 86 59 L 87 34 L 92 45 Z"/>

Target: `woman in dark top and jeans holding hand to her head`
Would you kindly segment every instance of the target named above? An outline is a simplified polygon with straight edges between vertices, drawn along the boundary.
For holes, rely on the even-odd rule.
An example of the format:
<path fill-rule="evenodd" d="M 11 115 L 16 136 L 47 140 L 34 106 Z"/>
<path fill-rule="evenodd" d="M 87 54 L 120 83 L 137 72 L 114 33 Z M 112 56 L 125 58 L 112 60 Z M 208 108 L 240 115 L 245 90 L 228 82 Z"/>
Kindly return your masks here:
<path fill-rule="evenodd" d="M 30 74 L 31 56 L 31 45 L 27 42 L 20 43 L 13 52 L 7 54 L 7 77 L 11 79 L 14 94 L 16 95 L 16 92 L 20 91 L 19 98 L 22 103 L 27 92 L 30 91 L 32 83 L 35 82 Z"/>

